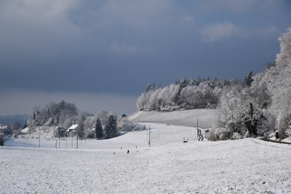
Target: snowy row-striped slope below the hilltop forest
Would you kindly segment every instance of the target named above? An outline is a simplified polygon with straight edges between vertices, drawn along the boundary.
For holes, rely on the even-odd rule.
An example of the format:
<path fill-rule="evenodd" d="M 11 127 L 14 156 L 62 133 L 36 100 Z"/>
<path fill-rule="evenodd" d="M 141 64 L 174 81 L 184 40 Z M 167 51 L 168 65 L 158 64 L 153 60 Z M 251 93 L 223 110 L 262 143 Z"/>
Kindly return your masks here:
<path fill-rule="evenodd" d="M 137 111 L 128 116 L 134 122 L 161 123 L 184 127 L 198 127 L 209 129 L 217 118 L 216 109 L 193 109 L 183 111 L 158 112 Z"/>

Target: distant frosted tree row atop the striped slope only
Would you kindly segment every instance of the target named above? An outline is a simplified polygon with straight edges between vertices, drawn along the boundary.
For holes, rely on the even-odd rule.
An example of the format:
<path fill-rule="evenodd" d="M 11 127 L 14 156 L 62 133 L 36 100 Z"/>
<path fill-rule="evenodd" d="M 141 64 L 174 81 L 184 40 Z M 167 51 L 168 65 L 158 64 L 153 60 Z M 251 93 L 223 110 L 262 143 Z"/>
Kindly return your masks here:
<path fill-rule="evenodd" d="M 137 99 L 138 111 L 175 111 L 194 108 L 216 108 L 223 88 L 236 84 L 237 79 L 224 80 L 210 77 L 187 78 L 175 81 L 170 86 L 161 87 L 148 84 L 145 92 Z"/>

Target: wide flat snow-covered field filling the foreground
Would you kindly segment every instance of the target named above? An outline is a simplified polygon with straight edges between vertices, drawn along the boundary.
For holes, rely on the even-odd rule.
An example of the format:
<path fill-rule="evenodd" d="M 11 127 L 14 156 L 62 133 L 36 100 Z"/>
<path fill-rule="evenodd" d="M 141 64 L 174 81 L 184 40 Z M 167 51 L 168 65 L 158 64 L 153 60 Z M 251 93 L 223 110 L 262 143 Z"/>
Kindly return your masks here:
<path fill-rule="evenodd" d="M 78 149 L 10 138 L 0 147 L 1 193 L 291 193 L 290 145 L 195 141 L 195 129 L 150 127 L 150 147 L 149 130 L 82 140 Z"/>

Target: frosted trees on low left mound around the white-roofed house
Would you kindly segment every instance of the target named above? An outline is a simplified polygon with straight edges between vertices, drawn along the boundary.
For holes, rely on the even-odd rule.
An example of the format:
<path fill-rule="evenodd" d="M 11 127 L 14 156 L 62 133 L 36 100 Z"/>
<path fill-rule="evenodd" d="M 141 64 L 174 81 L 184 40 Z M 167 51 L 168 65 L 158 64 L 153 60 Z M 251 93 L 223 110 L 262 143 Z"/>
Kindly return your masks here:
<path fill-rule="evenodd" d="M 79 111 L 74 103 L 64 100 L 59 103 L 50 102 L 44 108 L 34 106 L 33 113 L 23 128 L 28 128 L 28 133 L 35 133 L 39 126 L 55 126 L 54 136 L 65 137 L 70 135 L 67 130 L 74 124 L 79 125 L 79 129 L 72 133 L 79 138 L 108 139 L 122 132 L 144 129 L 138 123 L 116 113 L 100 111 L 93 115 L 88 111 Z M 15 138 L 22 133 L 21 129 L 19 122 L 11 126 L 11 133 Z"/>

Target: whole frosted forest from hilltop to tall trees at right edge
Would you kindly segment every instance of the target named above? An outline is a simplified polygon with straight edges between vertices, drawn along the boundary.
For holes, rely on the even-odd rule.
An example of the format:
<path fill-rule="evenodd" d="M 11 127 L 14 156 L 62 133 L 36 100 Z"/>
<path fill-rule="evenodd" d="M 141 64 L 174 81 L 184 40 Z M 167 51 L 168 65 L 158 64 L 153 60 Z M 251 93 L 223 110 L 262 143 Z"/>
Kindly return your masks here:
<path fill-rule="evenodd" d="M 261 73 L 250 72 L 244 81 L 184 77 L 170 86 L 148 84 L 136 102 L 139 111 L 174 111 L 216 108 L 211 138 L 231 134 L 291 134 L 291 28 L 278 38 L 280 53 Z"/>

